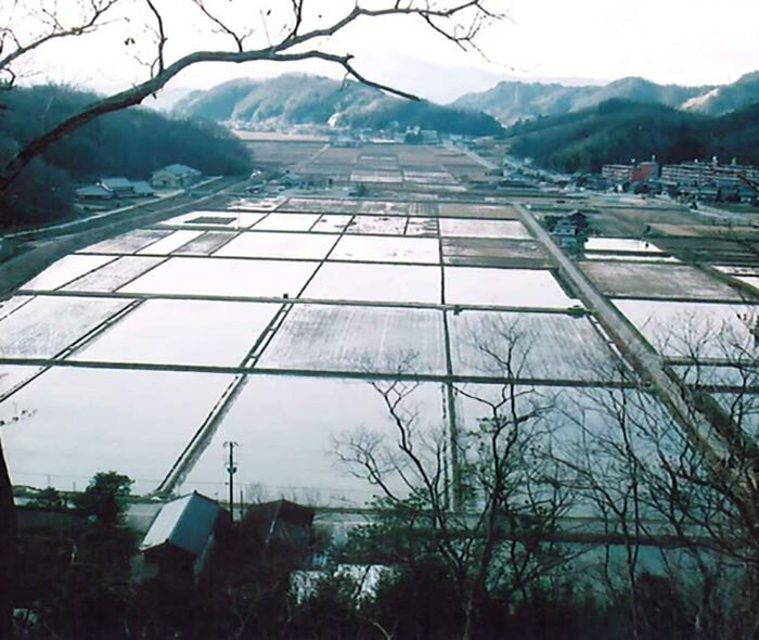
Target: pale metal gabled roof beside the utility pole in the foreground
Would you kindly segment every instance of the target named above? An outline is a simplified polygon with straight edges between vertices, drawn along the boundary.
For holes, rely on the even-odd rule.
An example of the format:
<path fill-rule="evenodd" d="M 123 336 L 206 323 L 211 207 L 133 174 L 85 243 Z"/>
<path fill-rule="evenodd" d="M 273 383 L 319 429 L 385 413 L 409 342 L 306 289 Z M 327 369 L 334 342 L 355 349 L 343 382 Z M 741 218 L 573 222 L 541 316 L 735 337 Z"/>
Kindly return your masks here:
<path fill-rule="evenodd" d="M 140 548 L 172 545 L 194 555 L 205 549 L 221 511 L 218 502 L 197 492 L 164 504 Z"/>

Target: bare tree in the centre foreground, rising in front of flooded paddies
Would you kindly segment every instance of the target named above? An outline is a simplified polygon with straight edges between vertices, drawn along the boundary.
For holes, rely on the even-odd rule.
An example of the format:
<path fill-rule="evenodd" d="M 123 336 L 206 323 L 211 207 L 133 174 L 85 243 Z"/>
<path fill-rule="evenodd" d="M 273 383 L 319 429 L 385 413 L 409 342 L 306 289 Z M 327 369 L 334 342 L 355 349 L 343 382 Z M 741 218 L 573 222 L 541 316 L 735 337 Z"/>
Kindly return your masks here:
<path fill-rule="evenodd" d="M 500 370 L 503 383 L 451 389 L 476 424 L 460 426 L 454 437 L 445 427 L 425 431 L 413 405 L 421 383 L 401 379 L 408 372 L 399 370 L 399 380 L 369 382 L 393 434 L 360 430 L 335 440 L 338 459 L 380 489 L 386 509 L 408 529 L 429 534 L 425 540 L 461 603 L 462 638 L 475 633 L 492 589 L 524 594 L 570 556 L 552 537 L 571 503 L 557 475 L 562 468 L 549 455 L 553 398 L 519 384 L 529 333 L 511 322 L 492 330 L 492 341 L 475 335 L 471 346 Z"/>

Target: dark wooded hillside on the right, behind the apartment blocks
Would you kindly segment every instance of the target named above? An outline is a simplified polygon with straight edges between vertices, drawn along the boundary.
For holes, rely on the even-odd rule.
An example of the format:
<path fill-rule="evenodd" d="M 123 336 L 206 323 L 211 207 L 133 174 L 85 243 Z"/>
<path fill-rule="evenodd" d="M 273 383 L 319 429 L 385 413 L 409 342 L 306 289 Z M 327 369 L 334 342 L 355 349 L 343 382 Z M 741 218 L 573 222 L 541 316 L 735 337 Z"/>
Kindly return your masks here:
<path fill-rule="evenodd" d="M 562 171 L 600 171 L 604 164 L 660 163 L 718 156 L 759 164 L 759 104 L 722 117 L 659 104 L 609 100 L 594 108 L 541 117 L 506 129 L 510 152 Z"/>

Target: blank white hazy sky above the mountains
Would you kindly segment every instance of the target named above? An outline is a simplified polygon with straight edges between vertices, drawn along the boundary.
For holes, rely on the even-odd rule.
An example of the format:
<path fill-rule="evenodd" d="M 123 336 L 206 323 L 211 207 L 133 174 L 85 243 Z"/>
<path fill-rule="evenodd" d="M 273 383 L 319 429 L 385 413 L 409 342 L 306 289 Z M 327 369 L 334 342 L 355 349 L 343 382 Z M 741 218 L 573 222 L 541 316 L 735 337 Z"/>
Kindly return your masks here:
<path fill-rule="evenodd" d="M 250 7 L 247 0 L 242 4 L 242 0 L 211 1 L 231 12 L 230 16 L 239 11 L 234 7 Z M 125 8 L 129 7 L 129 0 L 126 2 Z M 267 2 L 259 0 L 257 4 L 266 7 Z M 269 0 L 268 4 L 275 8 L 276 15 L 288 2 Z M 311 0 L 309 7 L 327 20 L 350 4 L 347 0 Z M 204 48 L 224 46 L 223 38 L 200 26 L 202 16 L 193 14 L 192 7 L 188 9 L 190 2 L 163 0 L 163 5 L 170 18 L 170 52 L 180 53 L 198 43 Z M 759 68 L 759 0 L 504 0 L 489 5 L 507 11 L 510 16 L 478 39 L 492 63 L 475 53 L 461 53 L 421 21 L 406 18 L 352 25 L 322 49 L 350 51 L 357 55 L 357 67 L 404 88 L 415 81 L 414 74 L 427 74 L 425 92 L 436 93 L 432 97 L 438 99 L 443 93 L 471 90 L 462 80 L 466 77 L 462 67 L 475 67 L 479 75 L 469 78 L 469 84 L 476 77 L 480 85 L 494 84 L 497 76 L 610 80 L 630 75 L 658 82 L 723 84 Z M 22 71 L 36 80 L 52 78 L 100 89 L 134 81 L 144 76 L 144 69 L 131 54 L 139 55 L 140 47 L 146 48 L 152 38 L 134 20 L 118 22 L 88 40 L 60 42 Z M 133 36 L 137 46 L 123 46 L 126 35 Z M 438 65 L 459 67 L 460 72 L 436 74 Z M 202 88 L 232 77 L 261 77 L 282 71 L 340 74 L 319 64 L 211 65 L 183 73 L 171 86 Z"/>

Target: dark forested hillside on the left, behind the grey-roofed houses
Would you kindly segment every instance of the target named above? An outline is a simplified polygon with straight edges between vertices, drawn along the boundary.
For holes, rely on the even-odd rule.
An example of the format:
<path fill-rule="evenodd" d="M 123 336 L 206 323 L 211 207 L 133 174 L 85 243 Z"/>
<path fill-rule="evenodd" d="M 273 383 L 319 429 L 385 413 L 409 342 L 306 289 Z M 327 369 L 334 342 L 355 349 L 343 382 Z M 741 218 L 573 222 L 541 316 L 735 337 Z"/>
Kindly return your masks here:
<path fill-rule="evenodd" d="M 0 158 L 94 98 L 60 86 L 17 88 L 0 100 Z M 13 183 L 0 202 L 0 228 L 72 215 L 74 187 L 103 176 L 146 179 L 183 163 L 204 174 L 245 171 L 245 148 L 213 123 L 171 119 L 145 108 L 103 116 L 54 144 Z"/>

